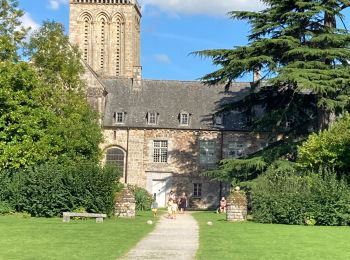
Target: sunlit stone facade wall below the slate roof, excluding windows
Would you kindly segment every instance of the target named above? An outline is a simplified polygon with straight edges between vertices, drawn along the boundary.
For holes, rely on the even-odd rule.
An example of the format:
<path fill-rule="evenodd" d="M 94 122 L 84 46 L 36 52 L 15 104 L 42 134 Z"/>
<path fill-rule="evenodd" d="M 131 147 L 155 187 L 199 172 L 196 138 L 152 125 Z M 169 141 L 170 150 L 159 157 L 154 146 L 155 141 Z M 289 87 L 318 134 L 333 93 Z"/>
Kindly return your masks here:
<path fill-rule="evenodd" d="M 232 143 L 245 143 L 244 153 L 252 153 L 261 148 L 266 142 L 261 135 L 220 132 L 220 131 L 193 131 L 193 130 L 164 130 L 164 129 L 106 129 L 105 143 L 102 148 L 120 147 L 127 152 L 127 182 L 144 187 L 152 192 L 152 179 L 168 179 L 167 192 L 182 192 L 190 198 L 193 208 L 216 207 L 219 200 L 220 183 L 210 181 L 200 175 L 203 171 L 215 167 L 215 164 L 200 163 L 200 140 L 214 140 L 216 142 L 215 156 L 219 161 L 222 158 L 232 157 L 230 149 Z M 153 141 L 168 141 L 168 162 L 153 162 Z M 221 149 L 222 142 L 222 149 Z M 123 179 L 125 180 L 125 179 Z M 202 184 L 202 196 L 194 197 L 194 184 Z M 227 191 L 223 185 L 223 191 Z M 226 194 L 223 193 L 222 196 Z"/>

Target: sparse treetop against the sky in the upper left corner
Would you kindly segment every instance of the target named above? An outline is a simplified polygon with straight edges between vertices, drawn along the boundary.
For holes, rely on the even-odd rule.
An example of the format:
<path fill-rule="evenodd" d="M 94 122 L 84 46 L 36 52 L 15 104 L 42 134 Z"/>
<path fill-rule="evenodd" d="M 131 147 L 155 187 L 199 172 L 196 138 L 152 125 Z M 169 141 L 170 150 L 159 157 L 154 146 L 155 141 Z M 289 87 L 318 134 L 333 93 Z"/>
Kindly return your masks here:
<path fill-rule="evenodd" d="M 0 61 L 19 59 L 17 50 L 28 31 L 21 25 L 23 14 L 17 0 L 0 0 Z"/>

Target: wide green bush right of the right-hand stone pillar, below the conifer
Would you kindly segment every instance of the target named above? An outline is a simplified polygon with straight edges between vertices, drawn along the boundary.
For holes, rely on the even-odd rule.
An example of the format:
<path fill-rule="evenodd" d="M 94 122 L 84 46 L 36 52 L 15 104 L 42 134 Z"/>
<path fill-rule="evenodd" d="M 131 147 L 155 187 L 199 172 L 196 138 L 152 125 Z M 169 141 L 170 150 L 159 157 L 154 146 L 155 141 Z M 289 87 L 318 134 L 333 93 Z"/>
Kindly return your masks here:
<path fill-rule="evenodd" d="M 270 169 L 252 186 L 253 216 L 261 223 L 350 224 L 350 189 L 329 171 L 298 175 Z"/>

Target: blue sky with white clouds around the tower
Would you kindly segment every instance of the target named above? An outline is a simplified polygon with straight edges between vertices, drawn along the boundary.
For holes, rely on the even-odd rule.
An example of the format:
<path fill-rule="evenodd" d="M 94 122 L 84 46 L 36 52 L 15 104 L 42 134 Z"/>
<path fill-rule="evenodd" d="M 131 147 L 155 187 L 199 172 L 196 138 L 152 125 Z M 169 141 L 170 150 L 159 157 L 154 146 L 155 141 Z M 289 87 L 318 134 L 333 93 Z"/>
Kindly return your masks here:
<path fill-rule="evenodd" d="M 65 25 L 69 0 L 19 0 L 24 23 L 33 28 L 44 20 Z M 215 70 L 196 50 L 245 45 L 249 26 L 230 20 L 232 10 L 260 10 L 259 0 L 139 0 L 142 6 L 141 63 L 146 79 L 196 80 Z M 348 22 L 346 22 L 347 25 Z M 350 27 L 350 26 L 348 26 Z M 243 81 L 251 80 L 247 75 Z"/>

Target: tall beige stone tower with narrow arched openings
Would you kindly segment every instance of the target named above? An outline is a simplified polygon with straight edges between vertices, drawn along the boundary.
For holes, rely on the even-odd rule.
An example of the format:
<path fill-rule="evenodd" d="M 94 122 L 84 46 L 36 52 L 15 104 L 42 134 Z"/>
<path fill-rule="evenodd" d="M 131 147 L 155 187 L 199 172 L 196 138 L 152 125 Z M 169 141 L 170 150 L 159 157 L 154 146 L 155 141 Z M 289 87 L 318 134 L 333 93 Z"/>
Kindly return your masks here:
<path fill-rule="evenodd" d="M 100 77 L 141 78 L 137 0 L 70 0 L 70 41 Z"/>

